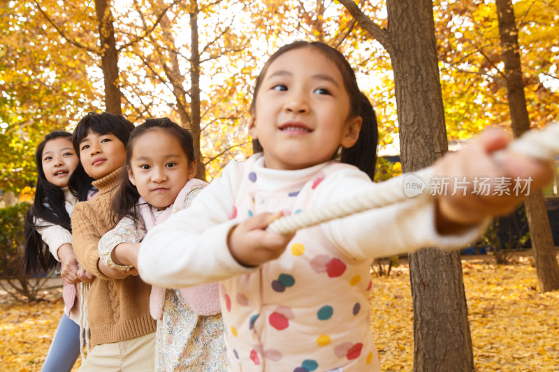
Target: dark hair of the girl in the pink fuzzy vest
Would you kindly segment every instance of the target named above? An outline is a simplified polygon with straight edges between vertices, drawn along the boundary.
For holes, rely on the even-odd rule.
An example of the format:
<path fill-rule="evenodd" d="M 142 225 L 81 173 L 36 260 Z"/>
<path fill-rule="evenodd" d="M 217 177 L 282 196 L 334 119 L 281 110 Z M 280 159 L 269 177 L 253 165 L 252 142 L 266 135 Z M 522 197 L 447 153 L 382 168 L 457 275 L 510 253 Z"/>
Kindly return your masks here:
<path fill-rule="evenodd" d="M 188 129 L 182 128 L 182 126 L 176 124 L 167 117 L 162 117 L 147 119 L 144 124 L 140 124 L 130 133 L 128 143 L 126 144 L 126 161 L 124 162 L 126 170 L 130 169 L 132 151 L 136 140 L 145 133 L 157 130 L 166 131 L 169 135 L 179 140 L 180 147 L 184 150 L 184 154 L 187 155 L 189 162 L 194 161 L 194 140 L 192 134 Z M 111 203 L 112 222 L 118 223 L 122 218 L 129 216 L 137 225 L 139 216 L 136 204 L 139 199 L 140 194 L 138 193 L 138 189 L 131 183 L 128 172 L 122 172 L 120 186 Z"/>

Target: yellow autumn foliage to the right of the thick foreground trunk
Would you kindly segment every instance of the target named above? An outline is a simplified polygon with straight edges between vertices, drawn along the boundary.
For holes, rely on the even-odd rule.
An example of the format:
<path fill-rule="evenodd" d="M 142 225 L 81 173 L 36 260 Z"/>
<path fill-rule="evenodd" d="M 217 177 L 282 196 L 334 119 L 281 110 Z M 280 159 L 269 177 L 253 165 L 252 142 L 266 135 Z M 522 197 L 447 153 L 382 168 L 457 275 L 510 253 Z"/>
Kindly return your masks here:
<path fill-rule="evenodd" d="M 435 32 L 449 140 L 510 123 L 495 1 L 436 1 Z M 559 0 L 514 1 L 530 124 L 559 115 Z M 483 24 L 484 27 L 479 27 Z"/>

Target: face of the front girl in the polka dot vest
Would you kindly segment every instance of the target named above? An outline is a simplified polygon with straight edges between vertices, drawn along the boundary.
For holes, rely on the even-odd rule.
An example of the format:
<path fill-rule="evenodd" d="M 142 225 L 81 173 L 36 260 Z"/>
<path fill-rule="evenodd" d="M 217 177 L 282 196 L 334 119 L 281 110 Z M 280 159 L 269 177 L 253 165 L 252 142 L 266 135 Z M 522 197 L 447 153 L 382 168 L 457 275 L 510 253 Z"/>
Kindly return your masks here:
<path fill-rule="evenodd" d="M 340 70 L 319 50 L 301 47 L 268 67 L 249 134 L 262 146 L 266 168 L 303 169 L 355 144 L 362 120 L 349 111 Z"/>

